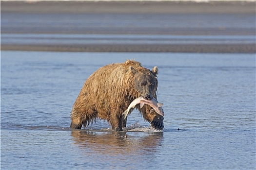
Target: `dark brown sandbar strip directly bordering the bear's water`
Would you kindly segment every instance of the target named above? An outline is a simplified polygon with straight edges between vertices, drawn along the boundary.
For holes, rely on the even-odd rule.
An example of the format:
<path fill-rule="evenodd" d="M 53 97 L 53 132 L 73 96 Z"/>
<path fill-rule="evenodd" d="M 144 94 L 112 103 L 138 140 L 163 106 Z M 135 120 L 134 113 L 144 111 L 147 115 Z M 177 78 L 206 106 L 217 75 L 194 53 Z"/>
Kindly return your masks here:
<path fill-rule="evenodd" d="M 78 52 L 199 52 L 199 53 L 256 53 L 255 44 L 231 45 L 1 45 L 5 51 L 78 51 Z"/>

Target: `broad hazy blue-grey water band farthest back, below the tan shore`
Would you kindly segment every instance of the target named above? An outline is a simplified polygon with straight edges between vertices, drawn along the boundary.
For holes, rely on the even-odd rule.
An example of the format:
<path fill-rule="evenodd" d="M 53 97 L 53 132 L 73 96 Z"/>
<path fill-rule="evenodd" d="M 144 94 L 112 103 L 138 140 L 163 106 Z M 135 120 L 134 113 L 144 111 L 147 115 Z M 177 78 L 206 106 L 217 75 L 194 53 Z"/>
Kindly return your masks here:
<path fill-rule="evenodd" d="M 199 10 L 200 11 L 200 10 Z M 255 15 L 55 13 L 3 11 L 2 34 L 232 34 L 254 35 Z"/>

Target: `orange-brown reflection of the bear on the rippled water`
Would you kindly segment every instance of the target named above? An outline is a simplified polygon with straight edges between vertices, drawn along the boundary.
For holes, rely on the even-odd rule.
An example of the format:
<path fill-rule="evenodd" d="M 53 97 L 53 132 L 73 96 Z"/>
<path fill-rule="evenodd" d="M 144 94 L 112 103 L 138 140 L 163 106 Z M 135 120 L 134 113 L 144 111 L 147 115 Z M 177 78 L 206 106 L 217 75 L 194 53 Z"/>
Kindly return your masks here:
<path fill-rule="evenodd" d="M 73 130 L 71 136 L 78 147 L 101 154 L 156 153 L 163 140 L 163 133 L 142 132 L 90 132 Z M 88 154 L 87 153 L 87 154 Z"/>

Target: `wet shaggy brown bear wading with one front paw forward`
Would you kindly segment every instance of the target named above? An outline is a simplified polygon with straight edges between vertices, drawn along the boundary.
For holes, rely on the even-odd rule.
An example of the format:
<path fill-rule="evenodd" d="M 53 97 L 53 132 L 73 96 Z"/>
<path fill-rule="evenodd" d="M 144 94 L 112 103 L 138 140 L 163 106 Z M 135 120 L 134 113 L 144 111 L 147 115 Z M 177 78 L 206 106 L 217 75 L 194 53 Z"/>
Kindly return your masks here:
<path fill-rule="evenodd" d="M 81 129 L 96 119 L 107 120 L 113 131 L 122 131 L 126 119 L 122 113 L 139 96 L 157 99 L 158 68 L 144 68 L 137 61 L 109 64 L 95 71 L 85 81 L 71 112 L 72 129 Z M 136 108 L 157 130 L 163 129 L 163 117 L 151 112 L 149 105 Z"/>

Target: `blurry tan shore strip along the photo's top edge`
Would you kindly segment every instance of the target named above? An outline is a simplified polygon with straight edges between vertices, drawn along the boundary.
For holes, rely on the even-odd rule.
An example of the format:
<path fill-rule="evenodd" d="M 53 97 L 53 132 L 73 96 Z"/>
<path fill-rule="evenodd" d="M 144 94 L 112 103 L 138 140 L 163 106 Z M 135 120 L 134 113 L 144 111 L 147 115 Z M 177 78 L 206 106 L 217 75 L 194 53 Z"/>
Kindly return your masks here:
<path fill-rule="evenodd" d="M 1 0 L 1 12 L 16 13 L 255 13 L 256 1 L 27 1 Z"/>

